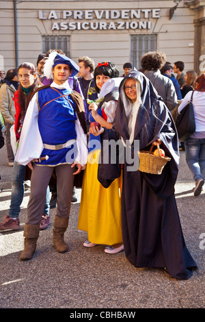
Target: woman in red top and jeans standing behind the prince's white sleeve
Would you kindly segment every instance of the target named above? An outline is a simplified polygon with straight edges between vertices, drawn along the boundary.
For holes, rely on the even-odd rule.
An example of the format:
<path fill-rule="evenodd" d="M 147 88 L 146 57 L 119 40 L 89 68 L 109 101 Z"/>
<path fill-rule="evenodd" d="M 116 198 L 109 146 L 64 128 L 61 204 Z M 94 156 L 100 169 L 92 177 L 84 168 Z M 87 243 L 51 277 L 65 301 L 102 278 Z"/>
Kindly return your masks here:
<path fill-rule="evenodd" d="M 21 135 L 21 128 L 24 123 L 25 114 L 27 112 L 27 106 L 31 96 L 33 95 L 34 90 L 38 87 L 38 79 L 36 74 L 36 66 L 29 62 L 25 62 L 18 66 L 18 79 L 20 86 L 18 90 L 14 92 L 14 106 L 16 109 L 15 114 L 15 126 L 14 131 L 16 134 L 16 147 L 18 151 L 18 142 Z M 5 216 L 5 221 L 1 223 L 0 230 L 18 230 L 20 228 L 19 223 L 19 213 L 20 213 L 20 204 L 23 201 L 24 195 L 24 180 L 25 180 L 25 166 L 14 162 L 12 169 L 12 197 L 11 197 L 11 206 L 10 214 Z M 49 189 L 49 188 L 48 188 Z M 49 190 L 47 192 L 47 196 Z M 49 216 L 49 201 L 47 200 L 44 213 L 42 214 L 40 229 L 45 229 L 50 223 Z"/>

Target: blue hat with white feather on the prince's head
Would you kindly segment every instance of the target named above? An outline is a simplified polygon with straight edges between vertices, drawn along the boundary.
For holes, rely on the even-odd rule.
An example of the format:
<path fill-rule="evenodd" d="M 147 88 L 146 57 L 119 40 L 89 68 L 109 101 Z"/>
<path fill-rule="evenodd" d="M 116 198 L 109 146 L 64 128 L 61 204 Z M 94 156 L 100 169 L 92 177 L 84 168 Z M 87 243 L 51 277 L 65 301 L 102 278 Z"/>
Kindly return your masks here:
<path fill-rule="evenodd" d="M 46 78 L 53 78 L 52 69 L 57 64 L 67 64 L 70 66 L 70 69 L 72 69 L 72 74 L 70 76 L 74 76 L 79 73 L 79 66 L 73 60 L 68 58 L 66 55 L 57 53 L 57 51 L 51 51 L 49 58 L 46 59 L 44 64 L 44 76 L 46 76 Z"/>

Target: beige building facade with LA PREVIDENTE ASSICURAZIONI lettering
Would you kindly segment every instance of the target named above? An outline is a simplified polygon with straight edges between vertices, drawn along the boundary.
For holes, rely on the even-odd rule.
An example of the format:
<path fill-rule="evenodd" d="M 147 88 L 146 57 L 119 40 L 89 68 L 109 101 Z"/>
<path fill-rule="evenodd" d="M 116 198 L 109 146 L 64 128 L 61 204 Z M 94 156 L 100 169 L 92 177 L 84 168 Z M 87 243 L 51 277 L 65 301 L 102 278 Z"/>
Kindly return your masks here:
<path fill-rule="evenodd" d="M 39 53 L 62 49 L 78 62 L 125 62 L 141 68 L 141 55 L 159 50 L 185 71 L 205 70 L 205 1 L 0 0 L 0 69 L 36 64 Z"/>

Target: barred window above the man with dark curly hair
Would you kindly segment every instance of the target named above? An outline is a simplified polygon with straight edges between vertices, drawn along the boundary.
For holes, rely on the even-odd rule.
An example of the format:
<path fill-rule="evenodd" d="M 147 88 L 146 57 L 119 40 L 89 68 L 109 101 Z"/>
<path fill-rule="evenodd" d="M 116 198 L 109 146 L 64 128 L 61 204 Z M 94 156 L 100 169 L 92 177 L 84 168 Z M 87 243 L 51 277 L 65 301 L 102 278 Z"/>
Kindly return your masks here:
<path fill-rule="evenodd" d="M 141 69 L 141 55 L 156 50 L 156 40 L 155 34 L 131 35 L 131 64 L 133 67 Z"/>

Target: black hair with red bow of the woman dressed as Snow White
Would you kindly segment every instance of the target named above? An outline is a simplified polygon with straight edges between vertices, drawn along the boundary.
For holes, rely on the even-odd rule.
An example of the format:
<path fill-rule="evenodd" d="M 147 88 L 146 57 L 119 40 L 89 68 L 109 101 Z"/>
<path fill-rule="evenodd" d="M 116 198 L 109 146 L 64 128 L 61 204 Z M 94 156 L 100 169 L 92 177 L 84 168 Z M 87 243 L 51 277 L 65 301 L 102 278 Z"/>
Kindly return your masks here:
<path fill-rule="evenodd" d="M 96 76 L 98 75 L 105 75 L 110 78 L 119 77 L 120 72 L 118 71 L 117 67 L 113 62 L 102 62 L 96 66 L 94 70 L 94 84 L 96 88 L 96 92 L 100 92 L 98 86 L 96 86 Z"/>

